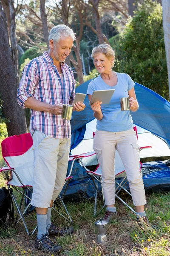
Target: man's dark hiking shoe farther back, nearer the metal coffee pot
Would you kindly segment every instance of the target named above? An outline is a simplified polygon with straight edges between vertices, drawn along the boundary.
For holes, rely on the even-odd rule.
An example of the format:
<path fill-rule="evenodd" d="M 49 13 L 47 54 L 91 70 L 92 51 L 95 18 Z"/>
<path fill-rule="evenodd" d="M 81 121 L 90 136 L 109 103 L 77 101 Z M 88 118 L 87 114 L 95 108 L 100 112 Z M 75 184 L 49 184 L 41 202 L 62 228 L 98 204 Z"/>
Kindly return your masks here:
<path fill-rule="evenodd" d="M 49 236 L 65 236 L 65 235 L 71 235 L 73 233 L 73 227 L 56 227 L 52 225 L 49 230 L 48 234 Z"/>

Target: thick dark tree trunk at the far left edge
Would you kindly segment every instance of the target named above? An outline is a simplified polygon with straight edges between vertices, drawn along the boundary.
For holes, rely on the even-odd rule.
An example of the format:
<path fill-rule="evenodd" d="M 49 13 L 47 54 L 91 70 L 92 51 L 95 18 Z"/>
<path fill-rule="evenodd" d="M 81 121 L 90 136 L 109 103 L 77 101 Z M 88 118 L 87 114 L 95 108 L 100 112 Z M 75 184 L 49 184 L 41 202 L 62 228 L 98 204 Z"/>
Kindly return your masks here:
<path fill-rule="evenodd" d="M 13 51 L 15 49 L 14 46 L 12 49 L 9 47 L 4 16 L 0 3 L 0 94 L 3 100 L 4 116 L 8 119 L 8 136 L 12 136 L 26 133 L 26 118 L 25 111 L 17 103 L 17 87 L 19 84 L 17 84 L 18 79 L 16 77 L 17 61 L 14 60 L 17 56 Z M 12 18 L 15 17 L 13 16 Z M 11 27 L 14 29 L 15 26 L 12 20 L 11 24 L 13 24 Z M 14 35 L 14 32 L 12 33 Z"/>

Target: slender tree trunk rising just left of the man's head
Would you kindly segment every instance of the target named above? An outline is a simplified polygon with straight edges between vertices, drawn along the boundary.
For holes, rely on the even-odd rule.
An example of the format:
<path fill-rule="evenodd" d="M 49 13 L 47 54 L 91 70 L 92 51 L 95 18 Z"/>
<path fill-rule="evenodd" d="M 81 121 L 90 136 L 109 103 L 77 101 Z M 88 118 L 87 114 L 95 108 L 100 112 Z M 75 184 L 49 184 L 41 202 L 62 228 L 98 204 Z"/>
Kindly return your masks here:
<path fill-rule="evenodd" d="M 45 0 L 40 0 L 40 14 L 41 14 L 43 33 L 44 33 L 44 40 L 47 44 L 47 47 L 49 48 L 47 14 L 45 13 Z"/>

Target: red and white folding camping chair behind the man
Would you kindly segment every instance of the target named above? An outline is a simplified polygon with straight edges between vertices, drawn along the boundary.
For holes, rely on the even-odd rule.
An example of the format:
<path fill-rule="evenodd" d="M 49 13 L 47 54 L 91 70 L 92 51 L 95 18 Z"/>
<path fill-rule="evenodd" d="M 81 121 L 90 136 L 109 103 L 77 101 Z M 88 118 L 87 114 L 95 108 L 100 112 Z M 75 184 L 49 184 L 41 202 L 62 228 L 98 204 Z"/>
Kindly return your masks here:
<path fill-rule="evenodd" d="M 28 235 L 30 235 L 28 231 L 28 227 L 26 226 L 26 222 L 24 220 L 24 216 L 28 208 L 31 205 L 31 198 L 27 195 L 26 191 L 32 193 L 32 184 L 33 184 L 33 172 L 34 172 L 34 148 L 33 141 L 30 134 L 20 134 L 19 136 L 14 135 L 6 138 L 1 143 L 2 146 L 2 155 L 5 160 L 6 166 L 0 169 L 0 172 L 10 172 L 10 178 L 7 182 L 8 190 L 11 192 L 12 198 L 14 200 L 14 204 L 17 207 L 17 215 L 20 215 L 20 218 L 17 220 L 17 223 L 20 219 L 23 221 L 24 227 Z M 71 176 L 69 175 L 65 179 L 66 187 L 65 191 L 68 187 L 68 184 L 71 180 Z M 17 204 L 17 200 L 12 193 L 12 188 L 14 188 L 17 192 L 21 194 L 20 204 Z M 20 189 L 22 188 L 22 189 Z M 72 222 L 71 216 L 68 213 L 67 208 L 62 200 L 65 195 L 65 191 L 62 197 L 59 195 L 58 198 L 61 201 L 62 206 L 65 209 L 66 215 L 69 220 Z M 24 198 L 28 199 L 29 203 L 22 211 L 21 207 L 23 204 Z M 54 208 L 53 208 L 54 209 Z M 54 209 L 57 211 L 56 209 Z M 61 213 L 59 213 L 62 215 Z M 64 215 L 63 218 L 68 220 Z M 36 227 L 37 228 L 37 227 Z M 34 234 L 36 228 L 31 233 Z"/>

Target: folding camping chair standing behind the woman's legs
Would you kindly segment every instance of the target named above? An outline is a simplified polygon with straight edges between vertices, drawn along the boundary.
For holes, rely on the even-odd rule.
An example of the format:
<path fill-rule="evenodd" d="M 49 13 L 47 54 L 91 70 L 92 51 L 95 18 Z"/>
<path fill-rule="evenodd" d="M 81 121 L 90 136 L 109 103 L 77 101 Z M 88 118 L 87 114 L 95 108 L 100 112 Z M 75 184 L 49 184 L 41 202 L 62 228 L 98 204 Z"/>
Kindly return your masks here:
<path fill-rule="evenodd" d="M 137 134 L 137 128 L 136 126 L 133 127 L 134 131 L 136 132 L 136 138 L 138 139 L 138 134 Z M 93 133 L 93 135 L 95 135 L 95 133 Z M 144 146 L 144 147 L 140 147 L 139 148 L 139 153 L 141 150 L 145 149 L 145 148 L 152 148 L 151 146 Z M 116 160 L 119 159 L 119 162 L 121 162 L 121 166 L 119 166 L 119 169 L 116 169 Z M 139 171 L 141 172 L 141 166 L 142 166 L 142 163 L 140 162 L 140 168 L 139 168 Z M 102 189 L 102 197 L 99 193 L 99 189 L 98 189 L 98 185 L 99 183 L 101 184 L 101 187 L 102 187 L 102 169 L 100 168 L 99 166 L 99 163 L 95 169 L 94 172 L 92 171 L 87 171 L 87 173 L 89 175 L 91 175 L 91 179 L 93 180 L 93 183 L 94 183 L 94 186 L 96 188 L 96 195 L 95 195 L 95 204 L 94 204 L 94 216 L 96 215 L 96 206 L 97 206 L 97 195 L 99 196 L 100 200 L 102 201 L 102 204 L 103 204 L 103 207 L 102 209 L 106 206 L 105 205 L 105 199 L 104 199 L 104 195 L 103 195 L 103 189 Z M 141 176 L 142 176 L 142 172 L 141 172 Z M 123 177 L 122 181 L 119 183 L 118 181 L 118 178 L 121 178 Z M 116 180 L 117 179 L 117 180 Z M 96 180 L 96 182 L 95 182 Z M 116 151 L 116 154 L 115 154 L 115 183 L 116 183 L 116 189 L 115 189 L 115 195 L 116 195 L 116 198 L 118 198 L 123 204 L 125 204 L 125 206 L 127 206 L 132 212 L 136 213 L 125 201 L 122 200 L 122 198 L 120 198 L 118 196 L 119 192 L 123 189 L 125 192 L 127 192 L 130 196 L 130 192 L 127 191 L 127 189 L 125 189 L 125 184 L 127 183 L 127 175 L 125 173 L 125 168 L 123 166 L 123 163 L 122 163 L 122 160 L 118 154 L 118 152 Z M 101 210 L 102 210 L 101 209 Z M 100 212 L 101 212 L 100 210 Z"/>

